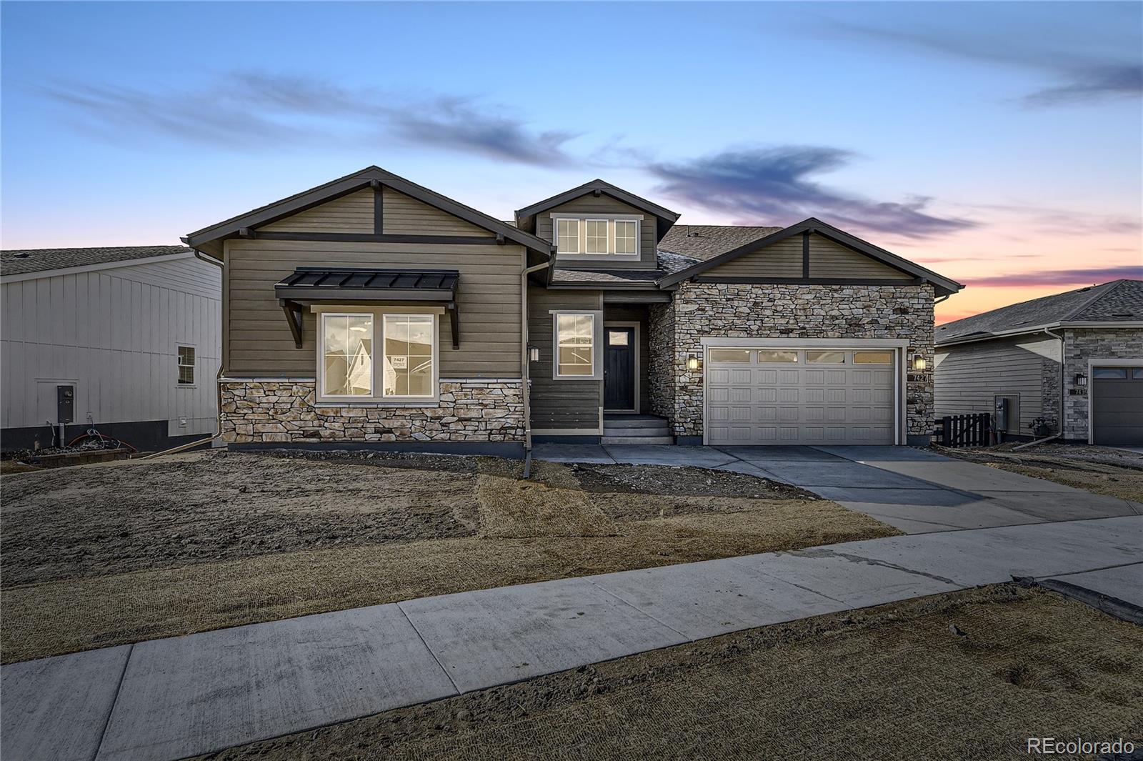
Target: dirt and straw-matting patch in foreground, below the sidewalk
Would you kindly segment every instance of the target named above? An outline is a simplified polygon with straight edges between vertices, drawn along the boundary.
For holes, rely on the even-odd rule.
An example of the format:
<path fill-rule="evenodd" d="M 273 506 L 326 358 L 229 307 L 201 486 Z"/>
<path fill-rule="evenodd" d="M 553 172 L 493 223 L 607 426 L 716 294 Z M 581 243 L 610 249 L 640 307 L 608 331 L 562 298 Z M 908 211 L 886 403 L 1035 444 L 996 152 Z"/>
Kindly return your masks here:
<path fill-rule="evenodd" d="M 1141 649 L 1143 628 L 1000 585 L 725 635 L 208 758 L 1026 759 L 1030 736 L 1143 737 Z"/>

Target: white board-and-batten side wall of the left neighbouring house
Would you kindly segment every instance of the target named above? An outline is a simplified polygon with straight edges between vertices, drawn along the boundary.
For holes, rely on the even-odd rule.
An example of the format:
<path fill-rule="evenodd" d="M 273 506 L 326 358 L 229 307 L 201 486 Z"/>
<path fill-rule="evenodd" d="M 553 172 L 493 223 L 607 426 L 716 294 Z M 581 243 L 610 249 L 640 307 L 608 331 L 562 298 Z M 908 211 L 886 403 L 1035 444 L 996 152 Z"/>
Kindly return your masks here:
<path fill-rule="evenodd" d="M 75 385 L 75 424 L 167 420 L 168 435 L 217 425 L 221 272 L 191 256 L 2 282 L 2 427 L 56 422 Z M 195 350 L 178 384 L 177 346 Z M 186 425 L 181 425 L 186 418 Z"/>

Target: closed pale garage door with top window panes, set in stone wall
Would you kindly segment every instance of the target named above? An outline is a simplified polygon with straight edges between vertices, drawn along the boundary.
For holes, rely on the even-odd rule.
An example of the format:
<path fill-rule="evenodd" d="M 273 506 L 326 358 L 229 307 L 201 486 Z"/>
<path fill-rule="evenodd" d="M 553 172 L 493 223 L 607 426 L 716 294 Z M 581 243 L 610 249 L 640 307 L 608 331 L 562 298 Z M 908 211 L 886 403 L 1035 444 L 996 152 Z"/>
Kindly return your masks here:
<path fill-rule="evenodd" d="M 712 444 L 892 444 L 889 349 L 708 349 Z"/>

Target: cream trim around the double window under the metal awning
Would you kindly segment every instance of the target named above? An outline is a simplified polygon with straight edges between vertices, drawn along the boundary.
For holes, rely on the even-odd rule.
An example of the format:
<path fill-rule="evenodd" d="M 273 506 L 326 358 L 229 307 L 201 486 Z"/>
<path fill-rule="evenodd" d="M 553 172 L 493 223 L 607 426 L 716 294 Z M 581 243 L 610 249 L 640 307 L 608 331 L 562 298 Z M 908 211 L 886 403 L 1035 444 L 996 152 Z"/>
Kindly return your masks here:
<path fill-rule="evenodd" d="M 347 304 L 314 304 L 310 311 L 317 317 L 317 345 L 314 352 L 314 375 L 317 376 L 314 391 L 314 403 L 318 407 L 439 407 L 440 406 L 440 318 L 445 313 L 440 306 L 358 306 Z M 373 318 L 373 341 L 374 341 L 374 363 L 373 363 L 373 393 L 368 396 L 330 396 L 325 393 L 325 330 L 322 319 L 326 314 L 361 315 L 368 314 Z M 377 385 L 377 347 L 384 352 L 384 315 L 395 317 L 424 317 L 433 318 L 432 330 L 432 396 L 385 396 L 384 388 Z"/>

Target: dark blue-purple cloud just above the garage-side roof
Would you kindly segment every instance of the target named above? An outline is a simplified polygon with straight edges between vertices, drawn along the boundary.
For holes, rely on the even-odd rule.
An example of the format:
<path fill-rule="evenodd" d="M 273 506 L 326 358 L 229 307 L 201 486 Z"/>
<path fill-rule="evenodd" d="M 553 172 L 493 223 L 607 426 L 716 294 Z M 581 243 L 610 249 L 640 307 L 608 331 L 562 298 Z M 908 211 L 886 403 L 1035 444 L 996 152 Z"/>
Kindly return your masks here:
<path fill-rule="evenodd" d="M 742 224 L 793 223 L 809 216 L 840 226 L 927 238 L 976 226 L 926 211 L 932 201 L 870 201 L 825 187 L 813 176 L 846 166 L 854 154 L 836 147 L 729 150 L 678 163 L 652 163 L 656 190 L 679 201 L 728 214 Z"/>

